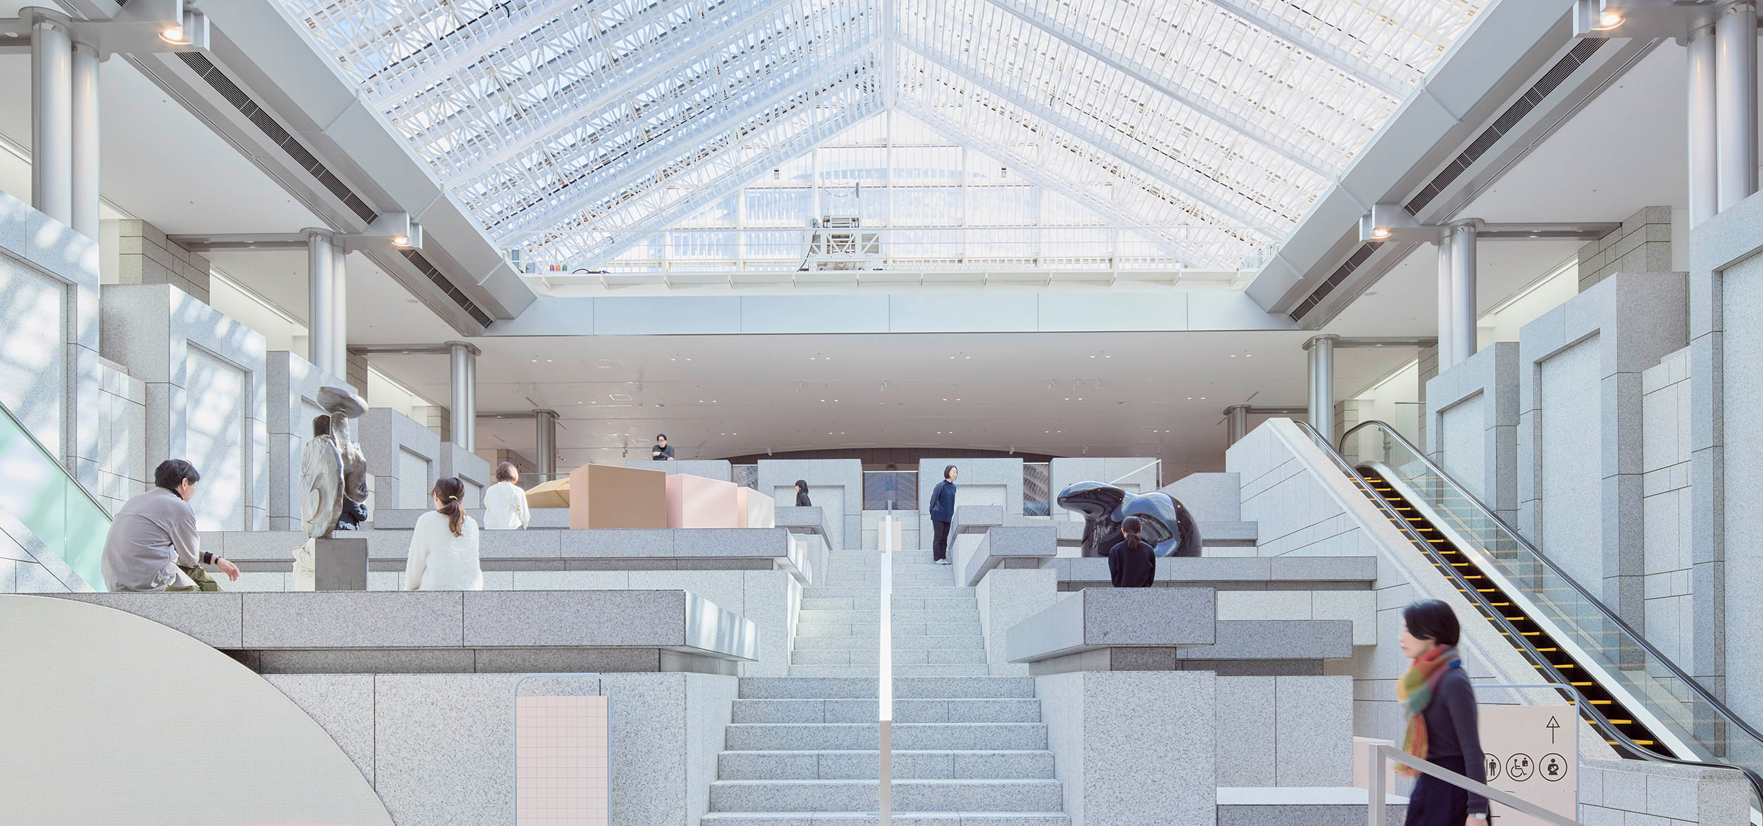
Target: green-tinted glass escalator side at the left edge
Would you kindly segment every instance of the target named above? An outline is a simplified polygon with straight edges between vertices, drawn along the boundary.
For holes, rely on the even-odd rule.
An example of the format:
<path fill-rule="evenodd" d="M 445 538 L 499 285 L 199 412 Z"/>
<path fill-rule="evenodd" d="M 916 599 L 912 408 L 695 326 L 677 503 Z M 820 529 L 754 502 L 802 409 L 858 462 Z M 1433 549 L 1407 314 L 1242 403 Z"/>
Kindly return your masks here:
<path fill-rule="evenodd" d="M 0 514 L 18 520 L 81 579 L 104 590 L 109 513 L 0 405 Z M 4 537 L 0 537 L 4 539 Z"/>

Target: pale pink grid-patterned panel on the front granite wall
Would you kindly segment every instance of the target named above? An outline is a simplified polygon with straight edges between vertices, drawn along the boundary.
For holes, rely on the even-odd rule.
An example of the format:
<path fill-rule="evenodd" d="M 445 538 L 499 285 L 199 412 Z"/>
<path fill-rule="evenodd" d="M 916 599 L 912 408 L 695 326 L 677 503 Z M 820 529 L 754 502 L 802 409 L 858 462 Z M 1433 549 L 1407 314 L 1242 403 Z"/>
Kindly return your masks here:
<path fill-rule="evenodd" d="M 517 697 L 515 826 L 606 826 L 606 697 Z"/>

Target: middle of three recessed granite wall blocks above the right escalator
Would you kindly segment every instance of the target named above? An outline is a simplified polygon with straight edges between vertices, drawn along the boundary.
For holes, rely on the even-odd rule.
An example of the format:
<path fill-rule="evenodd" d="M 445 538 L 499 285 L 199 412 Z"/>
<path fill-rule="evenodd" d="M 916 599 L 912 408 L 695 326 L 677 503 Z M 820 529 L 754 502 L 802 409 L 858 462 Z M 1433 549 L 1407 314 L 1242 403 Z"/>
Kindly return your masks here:
<path fill-rule="evenodd" d="M 1634 627 L 1641 372 L 1689 343 L 1687 299 L 1684 273 L 1618 273 L 1520 329 L 1516 527 Z"/>

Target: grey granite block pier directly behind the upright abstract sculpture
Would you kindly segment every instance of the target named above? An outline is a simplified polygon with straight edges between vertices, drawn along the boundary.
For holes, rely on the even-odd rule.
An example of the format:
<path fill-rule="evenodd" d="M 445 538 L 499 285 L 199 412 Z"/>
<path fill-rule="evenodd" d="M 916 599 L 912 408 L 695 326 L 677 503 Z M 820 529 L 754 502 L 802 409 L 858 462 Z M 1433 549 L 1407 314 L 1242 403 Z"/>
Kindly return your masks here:
<path fill-rule="evenodd" d="M 270 530 L 298 530 L 300 451 L 312 439 L 312 419 L 324 416 L 324 409 L 317 402 L 319 387 L 354 387 L 289 350 L 270 350 L 264 356 L 264 368 Z M 360 428 L 360 421 L 354 426 Z"/>

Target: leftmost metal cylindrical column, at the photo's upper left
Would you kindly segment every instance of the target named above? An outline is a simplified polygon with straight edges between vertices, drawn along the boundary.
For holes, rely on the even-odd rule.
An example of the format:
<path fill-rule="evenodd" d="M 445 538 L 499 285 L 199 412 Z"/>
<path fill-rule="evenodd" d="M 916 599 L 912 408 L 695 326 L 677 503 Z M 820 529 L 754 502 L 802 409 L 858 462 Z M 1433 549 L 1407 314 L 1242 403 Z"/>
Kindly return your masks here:
<path fill-rule="evenodd" d="M 74 42 L 46 18 L 30 30 L 30 204 L 74 224 Z"/>

